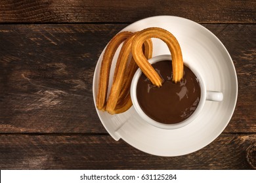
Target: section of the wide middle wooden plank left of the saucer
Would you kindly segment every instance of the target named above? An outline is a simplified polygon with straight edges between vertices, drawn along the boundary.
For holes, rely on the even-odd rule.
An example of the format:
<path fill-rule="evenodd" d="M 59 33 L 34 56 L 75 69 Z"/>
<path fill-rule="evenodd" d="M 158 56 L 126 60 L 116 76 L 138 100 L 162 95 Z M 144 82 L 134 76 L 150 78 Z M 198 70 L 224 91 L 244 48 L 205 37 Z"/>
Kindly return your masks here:
<path fill-rule="evenodd" d="M 92 84 L 112 28 L 1 25 L 0 131 L 105 133 Z"/>

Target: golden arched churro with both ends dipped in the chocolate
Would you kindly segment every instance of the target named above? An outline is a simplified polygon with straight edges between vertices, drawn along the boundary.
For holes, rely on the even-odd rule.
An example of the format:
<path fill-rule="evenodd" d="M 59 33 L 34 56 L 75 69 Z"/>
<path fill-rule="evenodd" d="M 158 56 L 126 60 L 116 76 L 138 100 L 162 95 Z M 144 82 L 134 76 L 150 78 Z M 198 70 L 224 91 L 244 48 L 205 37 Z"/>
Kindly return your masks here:
<path fill-rule="evenodd" d="M 140 67 L 144 75 L 150 79 L 152 84 L 160 87 L 163 82 L 160 75 L 154 70 L 154 68 L 148 63 L 148 60 L 145 58 L 142 50 L 142 44 L 147 39 L 158 38 L 161 39 L 165 44 L 167 44 L 171 56 L 172 56 L 172 65 L 173 65 L 173 81 L 179 82 L 183 76 L 183 59 L 181 53 L 181 47 L 177 39 L 166 31 L 159 27 L 150 27 L 139 31 L 135 38 L 133 39 L 132 44 L 132 54 L 137 65 Z"/>

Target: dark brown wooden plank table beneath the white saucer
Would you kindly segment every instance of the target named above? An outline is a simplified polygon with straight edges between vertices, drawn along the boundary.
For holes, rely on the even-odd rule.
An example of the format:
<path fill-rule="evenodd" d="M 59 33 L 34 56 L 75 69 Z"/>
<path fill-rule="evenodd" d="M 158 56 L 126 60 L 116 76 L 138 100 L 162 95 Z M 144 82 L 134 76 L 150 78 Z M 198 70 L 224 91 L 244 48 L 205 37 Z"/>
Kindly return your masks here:
<path fill-rule="evenodd" d="M 255 1 L 0 2 L 0 169 L 253 169 L 256 167 Z M 127 25 L 188 18 L 226 46 L 238 101 L 223 133 L 186 156 L 158 157 L 114 141 L 93 103 L 100 53 Z"/>

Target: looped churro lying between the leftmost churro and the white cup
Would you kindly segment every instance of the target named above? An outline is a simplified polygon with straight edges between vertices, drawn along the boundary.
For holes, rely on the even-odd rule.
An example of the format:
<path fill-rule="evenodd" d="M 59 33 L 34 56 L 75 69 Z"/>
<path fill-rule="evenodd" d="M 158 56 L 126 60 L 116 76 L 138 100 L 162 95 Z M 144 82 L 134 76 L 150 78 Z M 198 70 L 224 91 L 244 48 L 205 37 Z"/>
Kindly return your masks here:
<path fill-rule="evenodd" d="M 131 58 L 128 69 L 126 66 L 129 60 L 129 56 L 131 54 L 131 43 L 136 34 L 137 33 L 133 33 L 133 35 L 131 35 L 123 43 L 123 46 L 121 47 L 119 56 L 117 58 L 116 69 L 114 72 L 114 80 L 113 80 L 112 88 L 110 90 L 110 95 L 108 97 L 108 101 L 106 104 L 106 111 L 108 111 L 110 114 L 116 114 L 117 110 L 121 112 L 122 108 L 123 110 L 127 110 L 132 105 L 129 90 L 131 87 L 131 80 L 133 79 L 133 75 L 137 70 L 137 64 L 135 63 L 133 58 Z M 146 58 L 151 58 L 152 57 L 152 41 L 146 40 L 144 44 L 142 44 L 142 46 L 144 47 Z M 142 50 L 142 47 L 140 49 Z M 125 73 L 127 74 L 125 75 Z M 118 101 L 119 101 L 119 105 L 117 106 Z"/>

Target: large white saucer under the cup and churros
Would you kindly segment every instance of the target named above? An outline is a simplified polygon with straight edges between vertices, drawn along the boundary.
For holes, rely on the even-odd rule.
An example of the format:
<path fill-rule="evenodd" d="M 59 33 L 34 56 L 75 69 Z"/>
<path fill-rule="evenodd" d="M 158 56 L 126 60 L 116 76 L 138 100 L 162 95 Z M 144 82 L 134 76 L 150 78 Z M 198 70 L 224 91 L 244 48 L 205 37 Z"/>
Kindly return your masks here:
<path fill-rule="evenodd" d="M 236 70 L 228 51 L 208 29 L 196 22 L 176 16 L 154 16 L 135 22 L 121 31 L 140 31 L 146 27 L 167 29 L 181 44 L 184 59 L 197 69 L 205 80 L 207 90 L 223 92 L 222 102 L 206 101 L 200 115 L 179 129 L 159 129 L 142 120 L 135 109 L 110 115 L 96 109 L 110 135 L 123 139 L 131 146 L 156 156 L 181 156 L 200 150 L 214 141 L 224 130 L 236 106 L 238 82 Z M 169 54 L 165 43 L 153 39 L 153 56 Z M 119 52 L 119 50 L 117 50 Z M 98 59 L 93 78 L 96 99 L 98 76 L 103 52 Z M 115 56 L 113 63 L 116 63 Z M 113 75 L 112 67 L 111 75 Z M 112 81 L 110 81 L 112 82 Z"/>

